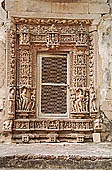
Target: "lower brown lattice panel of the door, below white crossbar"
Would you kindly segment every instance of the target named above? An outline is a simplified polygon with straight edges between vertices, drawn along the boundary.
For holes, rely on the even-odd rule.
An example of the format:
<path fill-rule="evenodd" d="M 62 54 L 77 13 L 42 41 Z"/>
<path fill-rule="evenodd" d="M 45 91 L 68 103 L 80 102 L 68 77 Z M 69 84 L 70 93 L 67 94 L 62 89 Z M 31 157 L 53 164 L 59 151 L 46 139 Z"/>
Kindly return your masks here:
<path fill-rule="evenodd" d="M 41 112 L 64 114 L 67 112 L 67 86 L 42 85 Z"/>

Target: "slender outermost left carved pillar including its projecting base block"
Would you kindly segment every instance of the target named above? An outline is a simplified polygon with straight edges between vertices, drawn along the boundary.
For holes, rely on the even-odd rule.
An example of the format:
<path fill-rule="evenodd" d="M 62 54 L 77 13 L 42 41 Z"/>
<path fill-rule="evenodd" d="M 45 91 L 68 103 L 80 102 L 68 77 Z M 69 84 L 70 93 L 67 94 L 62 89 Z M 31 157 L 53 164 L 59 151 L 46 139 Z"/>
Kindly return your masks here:
<path fill-rule="evenodd" d="M 7 113 L 3 123 L 3 131 L 12 136 L 13 120 L 15 119 L 15 96 L 16 96 L 16 25 L 7 22 Z"/>

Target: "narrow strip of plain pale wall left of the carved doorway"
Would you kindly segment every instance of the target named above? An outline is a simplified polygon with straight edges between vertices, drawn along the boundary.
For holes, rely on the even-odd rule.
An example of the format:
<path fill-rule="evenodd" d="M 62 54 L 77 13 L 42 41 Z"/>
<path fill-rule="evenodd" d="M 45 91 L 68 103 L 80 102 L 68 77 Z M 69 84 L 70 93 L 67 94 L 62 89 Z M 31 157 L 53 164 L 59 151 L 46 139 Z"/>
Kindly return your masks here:
<path fill-rule="evenodd" d="M 2 2 L 2 1 L 1 1 Z M 5 120 L 6 98 L 6 11 L 0 3 L 0 134 Z M 3 138 L 0 135 L 0 141 Z"/>

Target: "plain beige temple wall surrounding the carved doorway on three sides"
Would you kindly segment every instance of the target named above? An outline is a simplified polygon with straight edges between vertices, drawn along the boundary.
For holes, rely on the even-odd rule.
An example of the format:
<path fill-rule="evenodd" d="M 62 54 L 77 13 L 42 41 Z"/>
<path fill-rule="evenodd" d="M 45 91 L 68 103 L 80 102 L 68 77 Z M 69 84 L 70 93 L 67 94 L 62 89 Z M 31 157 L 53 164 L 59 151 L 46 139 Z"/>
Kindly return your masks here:
<path fill-rule="evenodd" d="M 3 2 L 3 0 L 1 0 Z M 5 6 L 5 9 L 3 9 Z M 12 16 L 93 19 L 98 32 L 97 90 L 102 141 L 112 141 L 112 0 L 5 0 L 0 6 L 0 141 L 6 118 L 6 29 Z"/>

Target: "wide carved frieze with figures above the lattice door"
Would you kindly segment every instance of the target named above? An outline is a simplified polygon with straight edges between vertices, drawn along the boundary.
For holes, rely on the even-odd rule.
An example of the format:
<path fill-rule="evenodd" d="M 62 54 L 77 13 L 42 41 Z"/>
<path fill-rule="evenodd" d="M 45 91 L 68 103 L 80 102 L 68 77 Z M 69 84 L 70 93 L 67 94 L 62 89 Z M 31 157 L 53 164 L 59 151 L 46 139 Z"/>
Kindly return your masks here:
<path fill-rule="evenodd" d="M 85 47 L 88 45 L 88 28 L 91 22 L 89 20 L 57 21 L 40 19 L 37 24 L 34 25 L 26 25 L 26 22 L 21 25 L 21 21 L 19 22 L 17 18 L 15 18 L 15 21 L 19 23 L 17 25 L 17 33 L 20 37 L 20 45 L 29 45 L 29 39 L 30 42 L 43 43 L 51 49 L 57 48 L 61 44 L 73 44 Z M 27 20 L 27 22 L 29 22 L 29 20 Z"/>

